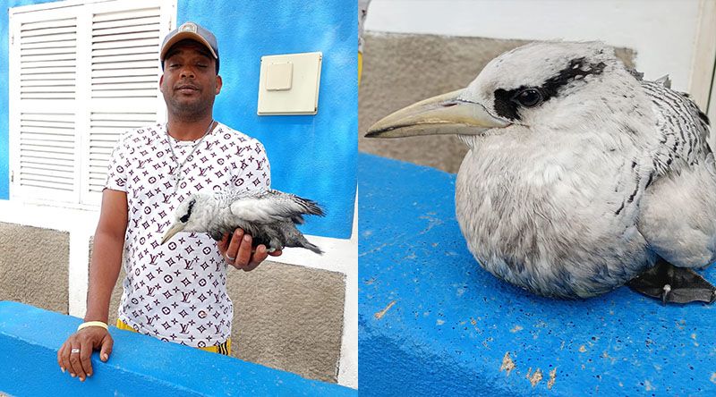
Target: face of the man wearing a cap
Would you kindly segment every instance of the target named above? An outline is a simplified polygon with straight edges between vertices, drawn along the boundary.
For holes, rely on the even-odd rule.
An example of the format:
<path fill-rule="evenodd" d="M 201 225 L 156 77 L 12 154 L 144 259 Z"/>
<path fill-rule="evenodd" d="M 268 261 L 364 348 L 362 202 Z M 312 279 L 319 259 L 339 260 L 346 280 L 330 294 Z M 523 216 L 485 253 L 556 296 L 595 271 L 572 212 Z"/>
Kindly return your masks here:
<path fill-rule="evenodd" d="M 190 118 L 207 111 L 210 114 L 214 97 L 221 90 L 216 60 L 200 43 L 182 40 L 166 53 L 159 88 L 170 114 Z"/>

